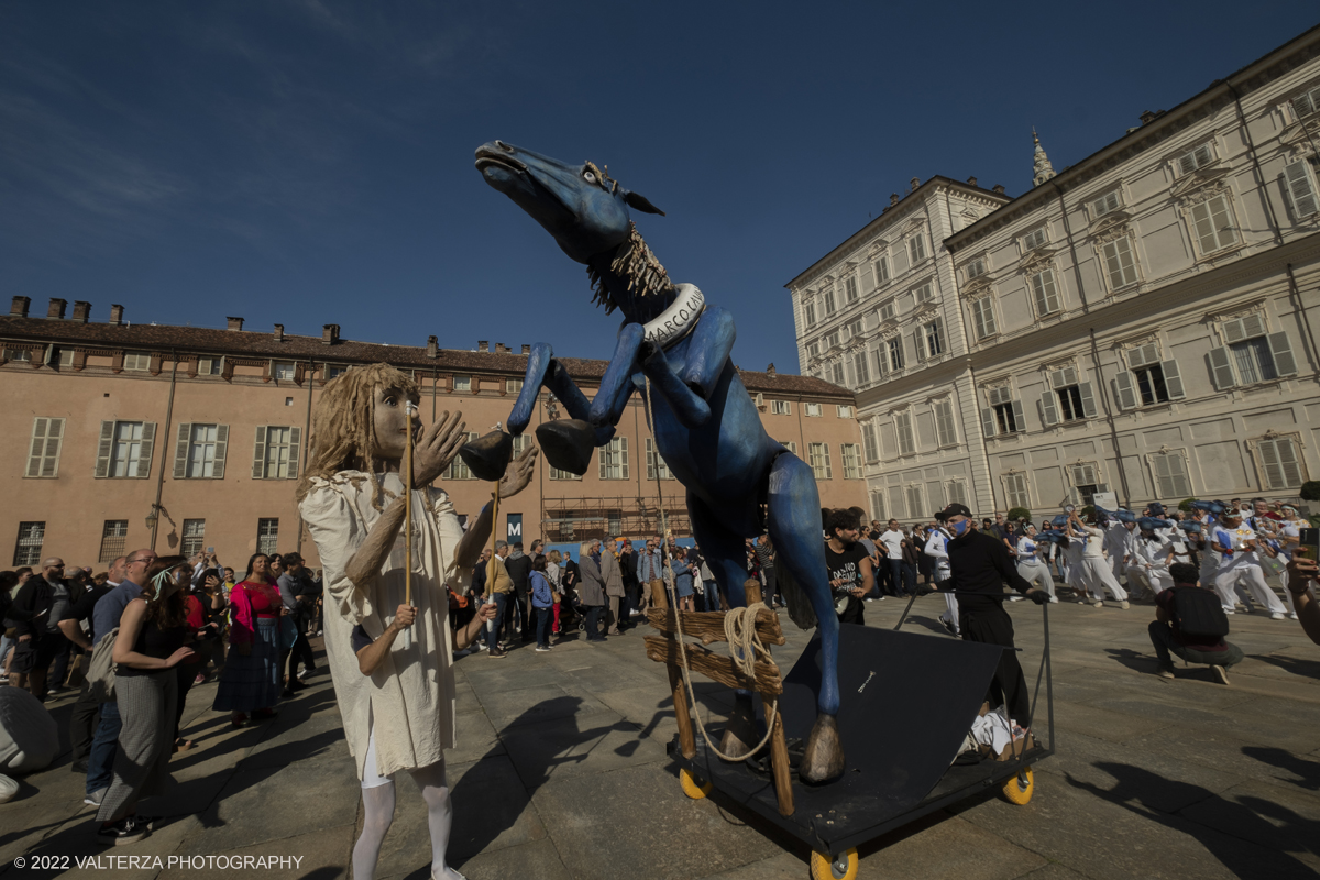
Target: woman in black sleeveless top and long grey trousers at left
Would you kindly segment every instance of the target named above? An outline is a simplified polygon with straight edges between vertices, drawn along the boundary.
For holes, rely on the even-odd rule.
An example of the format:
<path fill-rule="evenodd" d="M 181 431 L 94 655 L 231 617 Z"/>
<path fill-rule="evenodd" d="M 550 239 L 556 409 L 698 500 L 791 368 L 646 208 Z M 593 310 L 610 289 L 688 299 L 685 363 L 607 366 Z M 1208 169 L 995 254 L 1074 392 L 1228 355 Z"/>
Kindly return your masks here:
<path fill-rule="evenodd" d="M 193 656 L 183 584 L 174 577 L 181 559 L 157 559 L 147 570 L 141 596 L 119 619 L 112 660 L 115 701 L 123 718 L 114 776 L 96 818 L 100 843 L 119 846 L 145 838 L 153 818 L 137 815 L 137 801 L 164 794 L 169 785 L 170 734 L 178 702 L 176 668 Z"/>

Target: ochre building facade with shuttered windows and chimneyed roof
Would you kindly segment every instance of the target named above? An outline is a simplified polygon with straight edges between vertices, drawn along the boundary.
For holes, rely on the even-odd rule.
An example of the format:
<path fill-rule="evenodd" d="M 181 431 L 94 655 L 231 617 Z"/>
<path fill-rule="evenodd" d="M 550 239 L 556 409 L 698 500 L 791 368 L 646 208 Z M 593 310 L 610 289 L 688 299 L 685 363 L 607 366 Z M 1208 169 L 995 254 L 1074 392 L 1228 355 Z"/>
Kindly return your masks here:
<path fill-rule="evenodd" d="M 413 375 L 422 417 L 462 410 L 475 437 L 508 418 L 527 367 L 525 346 L 477 351 L 359 343 L 327 325 L 321 338 L 129 325 L 121 306 L 92 322 L 91 306 L 50 301 L 46 317 L 15 297 L 0 317 L 0 391 L 9 430 L 0 437 L 0 549 L 13 566 L 59 555 L 100 566 L 154 546 L 191 554 L 215 548 L 226 565 L 297 550 L 315 563 L 294 488 L 309 447 L 310 413 L 345 369 L 385 361 Z M 590 397 L 606 361 L 565 361 Z M 825 507 L 866 504 L 853 393 L 814 377 L 742 372 L 770 434 L 813 466 Z M 568 418 L 545 392 L 532 427 Z M 659 468 L 659 474 L 656 470 Z M 659 479 L 657 479 L 659 476 Z M 491 486 L 461 462 L 438 484 L 461 516 L 475 516 Z M 525 540 L 581 541 L 606 533 L 688 532 L 684 489 L 652 454 L 645 409 L 634 400 L 609 447 L 582 478 L 544 460 L 532 486 L 500 507 L 498 529 Z"/>

